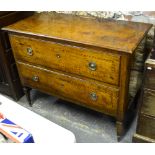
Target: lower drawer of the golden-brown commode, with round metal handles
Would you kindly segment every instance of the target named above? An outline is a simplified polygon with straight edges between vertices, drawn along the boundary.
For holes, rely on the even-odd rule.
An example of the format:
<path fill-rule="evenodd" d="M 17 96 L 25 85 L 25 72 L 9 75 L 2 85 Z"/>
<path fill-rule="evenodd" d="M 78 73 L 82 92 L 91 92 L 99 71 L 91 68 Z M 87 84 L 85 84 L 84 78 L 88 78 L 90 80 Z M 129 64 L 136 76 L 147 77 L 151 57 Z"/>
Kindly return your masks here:
<path fill-rule="evenodd" d="M 18 63 L 18 69 L 23 85 L 116 115 L 119 91 L 115 87 L 24 63 Z"/>

